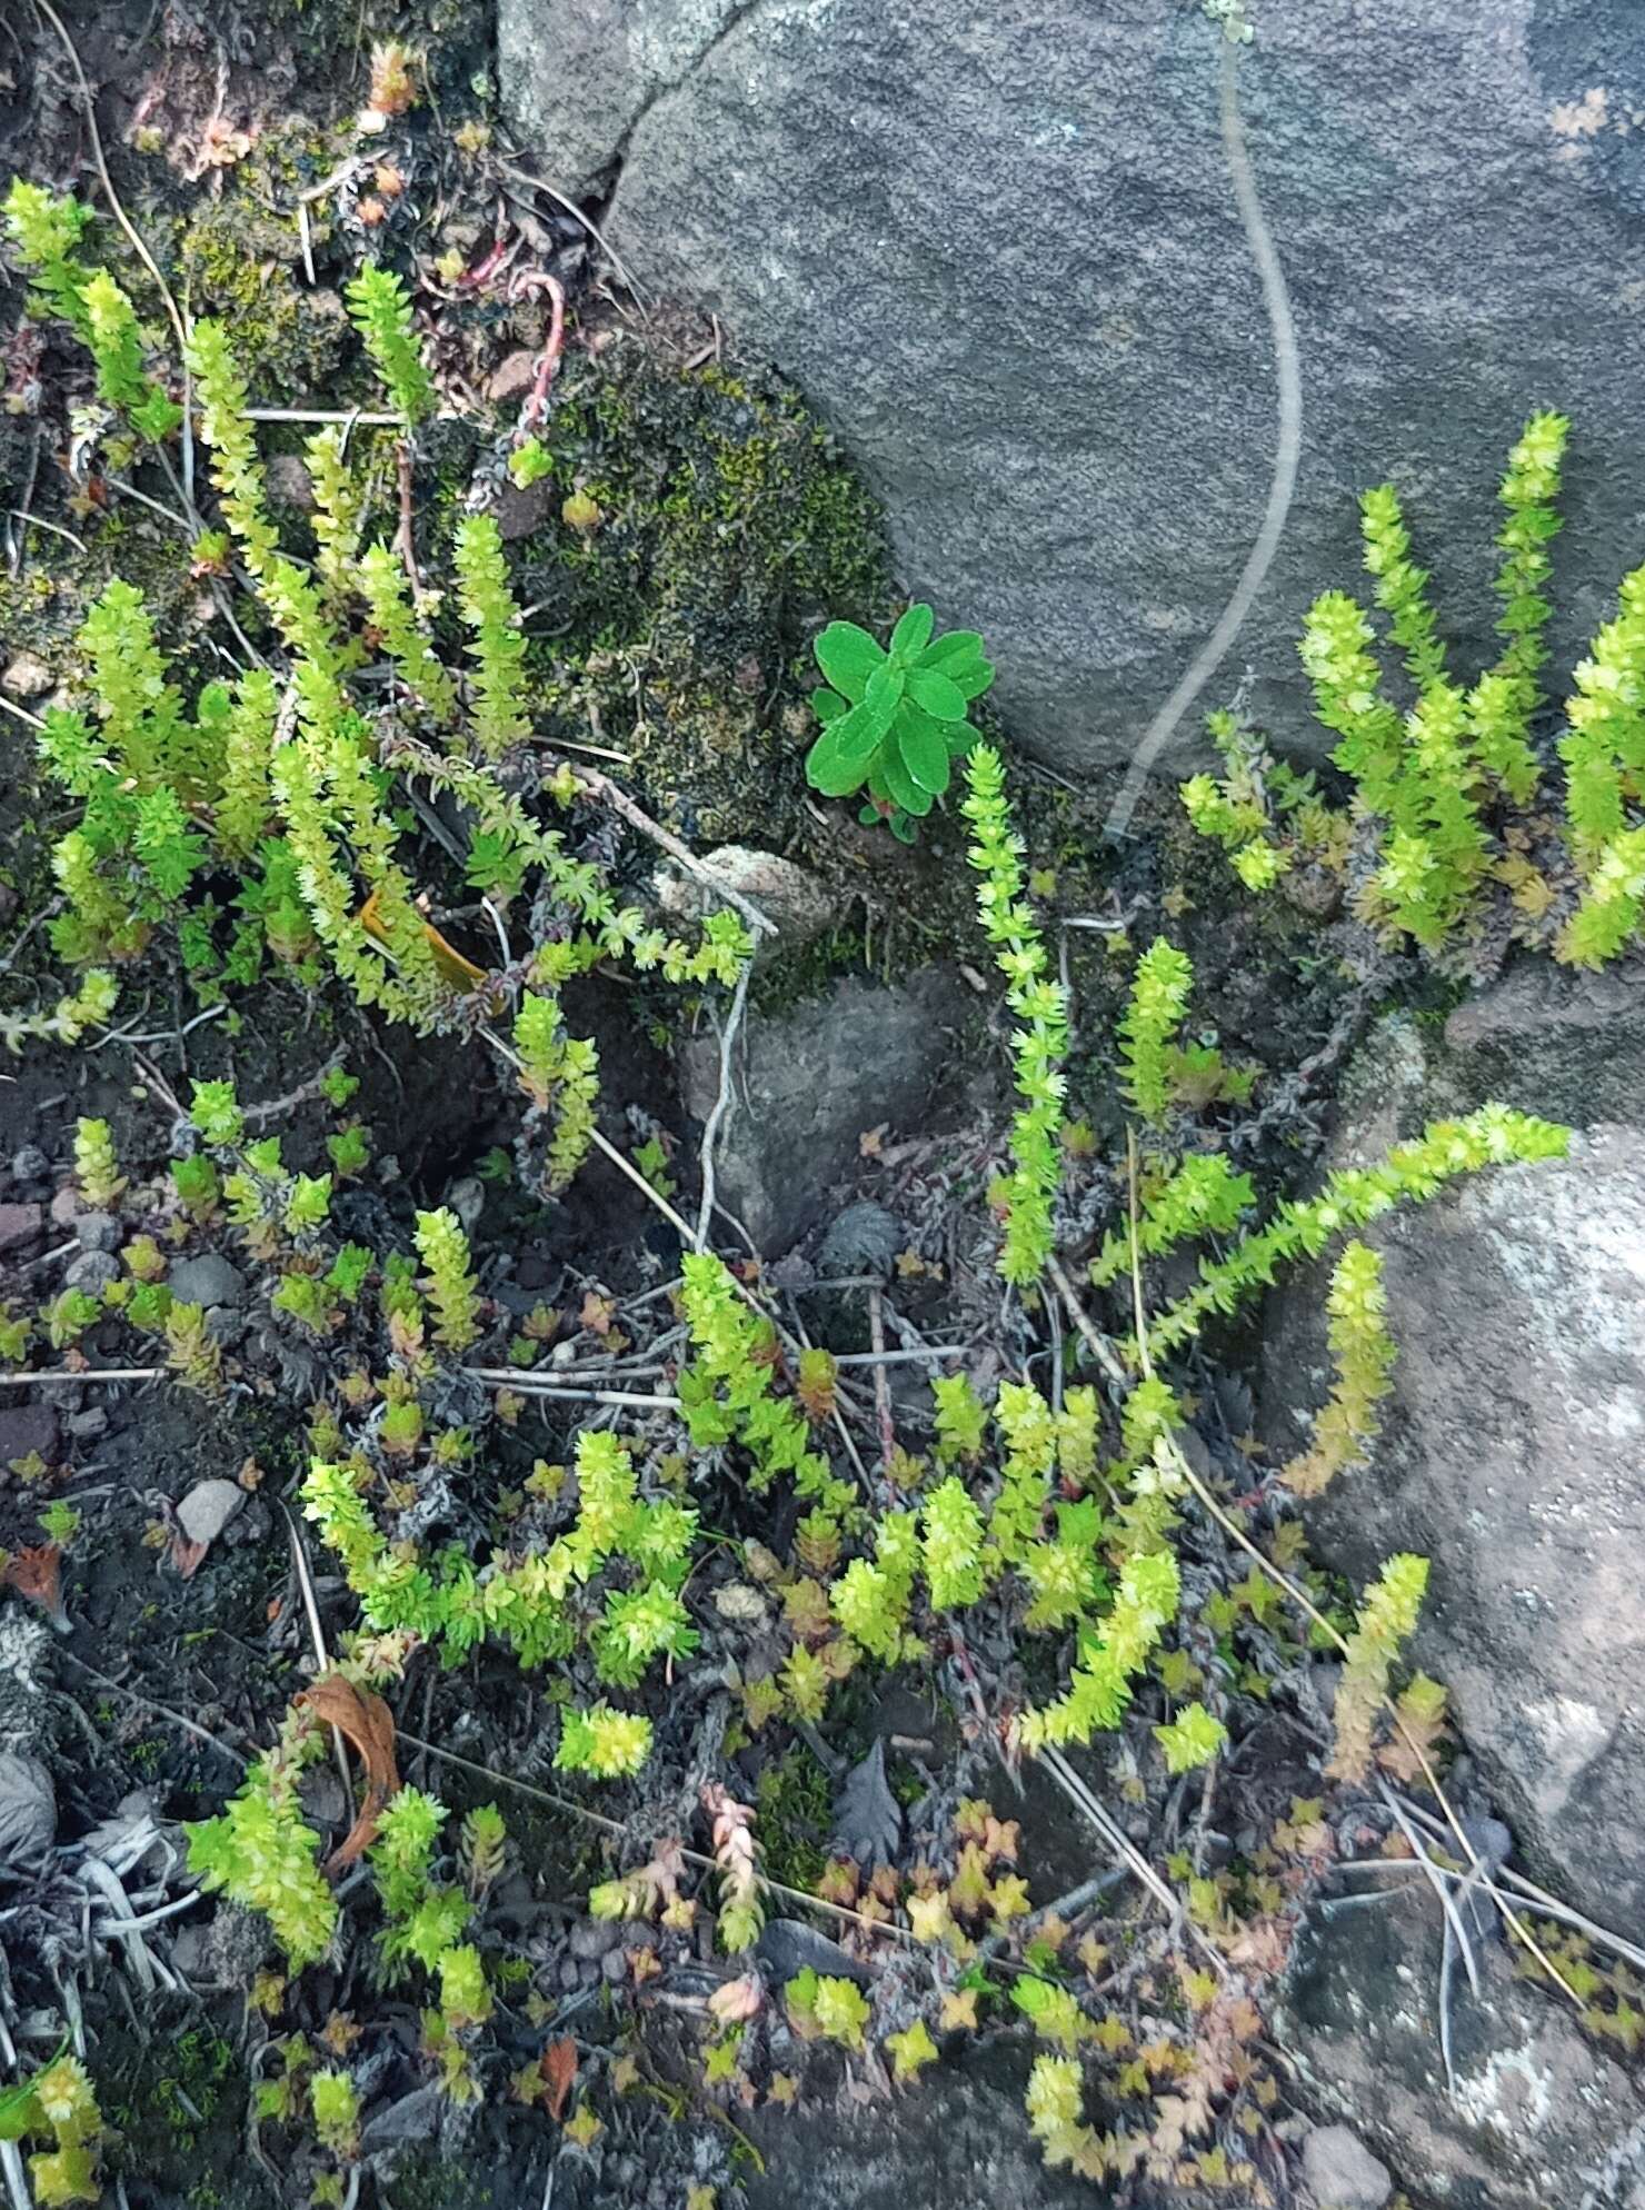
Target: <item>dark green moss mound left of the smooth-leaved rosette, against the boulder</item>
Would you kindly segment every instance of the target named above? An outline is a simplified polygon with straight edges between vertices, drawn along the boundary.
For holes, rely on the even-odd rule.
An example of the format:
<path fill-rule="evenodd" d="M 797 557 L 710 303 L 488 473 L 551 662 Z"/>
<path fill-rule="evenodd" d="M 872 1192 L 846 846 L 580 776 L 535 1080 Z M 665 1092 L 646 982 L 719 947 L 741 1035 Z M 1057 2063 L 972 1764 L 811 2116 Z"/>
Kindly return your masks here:
<path fill-rule="evenodd" d="M 699 842 L 780 846 L 803 809 L 809 634 L 891 606 L 876 504 L 776 380 L 630 338 L 568 369 L 546 444 L 544 519 L 515 561 L 553 632 L 535 652 L 548 734 L 599 732 Z M 559 519 L 570 488 L 597 528 Z"/>

